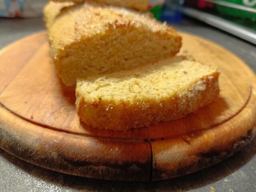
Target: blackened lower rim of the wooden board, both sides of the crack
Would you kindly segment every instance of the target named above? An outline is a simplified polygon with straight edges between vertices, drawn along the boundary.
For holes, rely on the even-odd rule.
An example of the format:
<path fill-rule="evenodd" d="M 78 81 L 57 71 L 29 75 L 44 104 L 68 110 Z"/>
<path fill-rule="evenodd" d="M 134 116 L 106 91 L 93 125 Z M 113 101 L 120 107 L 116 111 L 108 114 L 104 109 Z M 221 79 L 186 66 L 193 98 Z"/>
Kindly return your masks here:
<path fill-rule="evenodd" d="M 30 148 L 30 146 L 26 144 L 20 144 L 15 135 L 12 135 L 11 132 L 8 132 L 0 126 L 0 147 L 22 160 L 65 174 L 105 180 L 126 181 L 162 180 L 201 170 L 232 156 L 246 146 L 253 138 L 254 129 L 250 129 L 245 136 L 239 137 L 237 140 L 230 143 L 230 147 L 224 150 L 210 150 L 209 152 L 198 153 L 197 163 L 176 170 L 166 170 L 157 167 L 153 168 L 152 140 L 144 141 L 150 145 L 151 150 L 151 156 L 149 156 L 146 163 L 133 161 L 122 162 L 122 164 L 115 162 L 99 164 L 96 160 L 77 160 L 74 157 L 67 157 L 63 154 L 52 155 L 51 153 L 44 153 L 44 156 L 39 156 L 37 155 L 38 150 Z"/>

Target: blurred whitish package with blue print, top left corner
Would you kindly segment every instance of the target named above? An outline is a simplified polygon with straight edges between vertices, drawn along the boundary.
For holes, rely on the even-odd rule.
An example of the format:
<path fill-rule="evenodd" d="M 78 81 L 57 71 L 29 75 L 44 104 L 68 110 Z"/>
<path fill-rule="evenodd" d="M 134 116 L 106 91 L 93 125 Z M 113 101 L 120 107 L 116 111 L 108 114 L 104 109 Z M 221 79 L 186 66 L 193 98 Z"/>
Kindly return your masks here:
<path fill-rule="evenodd" d="M 48 0 L 0 0 L 0 17 L 42 17 Z"/>

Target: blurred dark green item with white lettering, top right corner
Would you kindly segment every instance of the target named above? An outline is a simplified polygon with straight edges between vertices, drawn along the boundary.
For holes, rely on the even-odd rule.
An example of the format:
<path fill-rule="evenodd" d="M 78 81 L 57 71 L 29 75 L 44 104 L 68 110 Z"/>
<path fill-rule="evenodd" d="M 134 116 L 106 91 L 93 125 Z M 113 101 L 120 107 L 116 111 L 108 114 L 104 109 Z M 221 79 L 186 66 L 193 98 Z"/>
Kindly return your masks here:
<path fill-rule="evenodd" d="M 222 0 L 222 1 L 226 1 L 226 2 L 230 2 L 230 3 L 238 4 L 241 6 L 246 6 L 246 7 L 256 9 L 256 0 Z M 221 14 L 225 14 L 225 15 L 233 16 L 233 17 L 237 17 L 237 18 L 242 18 L 242 19 L 250 19 L 254 22 L 256 21 L 256 13 L 253 13 L 253 12 L 247 12 L 245 10 L 238 10 L 235 8 L 230 8 L 230 7 L 222 6 L 222 5 L 218 5 L 218 4 L 216 4 L 216 8 Z"/>

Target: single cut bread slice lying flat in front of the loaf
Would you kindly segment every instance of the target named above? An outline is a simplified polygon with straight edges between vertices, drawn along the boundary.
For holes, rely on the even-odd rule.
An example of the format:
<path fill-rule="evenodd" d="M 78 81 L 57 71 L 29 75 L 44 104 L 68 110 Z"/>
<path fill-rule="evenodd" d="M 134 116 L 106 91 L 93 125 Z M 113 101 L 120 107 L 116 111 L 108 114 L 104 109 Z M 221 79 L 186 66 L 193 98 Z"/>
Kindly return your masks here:
<path fill-rule="evenodd" d="M 79 79 L 81 120 L 99 129 L 128 130 L 180 118 L 217 98 L 218 72 L 186 57 Z"/>

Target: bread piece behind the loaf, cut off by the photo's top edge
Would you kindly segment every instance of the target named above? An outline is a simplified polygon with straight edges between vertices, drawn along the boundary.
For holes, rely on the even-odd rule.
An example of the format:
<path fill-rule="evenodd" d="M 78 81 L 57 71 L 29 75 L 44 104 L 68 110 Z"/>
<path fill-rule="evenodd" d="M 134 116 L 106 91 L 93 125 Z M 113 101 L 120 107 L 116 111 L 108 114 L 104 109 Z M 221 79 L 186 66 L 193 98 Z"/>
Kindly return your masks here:
<path fill-rule="evenodd" d="M 66 2 L 67 0 L 54 0 L 56 2 Z M 82 3 L 87 0 L 72 0 L 75 3 Z M 147 10 L 148 0 L 94 0 L 96 2 L 102 2 L 114 6 L 122 6 L 133 8 L 136 10 Z"/>

